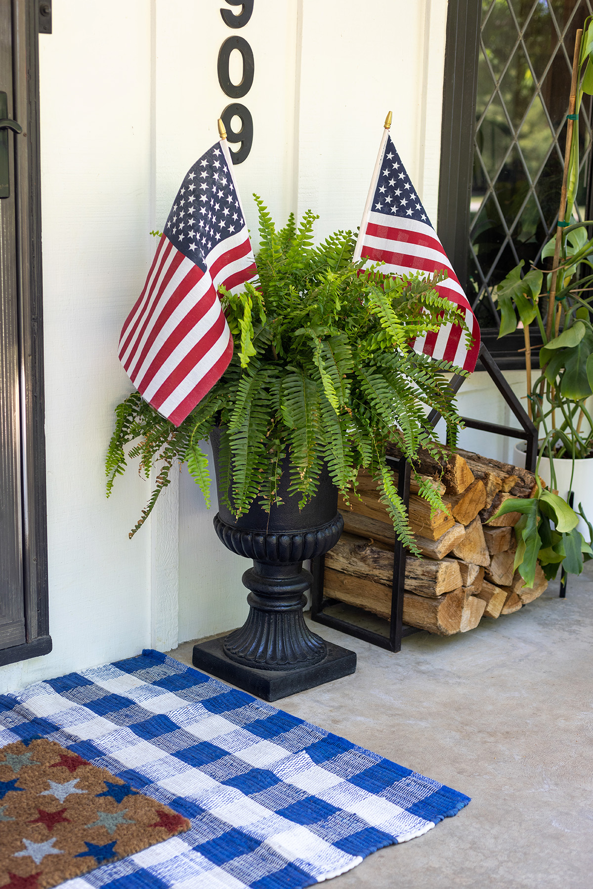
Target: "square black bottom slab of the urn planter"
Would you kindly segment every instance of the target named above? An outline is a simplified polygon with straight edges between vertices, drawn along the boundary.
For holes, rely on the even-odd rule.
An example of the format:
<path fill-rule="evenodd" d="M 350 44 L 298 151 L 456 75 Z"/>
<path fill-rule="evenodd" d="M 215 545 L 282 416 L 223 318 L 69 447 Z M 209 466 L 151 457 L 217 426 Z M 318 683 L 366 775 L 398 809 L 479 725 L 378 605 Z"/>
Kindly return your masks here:
<path fill-rule="evenodd" d="M 350 676 L 357 669 L 356 653 L 331 642 L 327 643 L 327 656 L 323 661 L 312 667 L 285 670 L 255 669 L 237 664 L 224 653 L 223 642 L 224 637 L 219 637 L 194 645 L 194 667 L 238 685 L 264 701 L 277 701 L 289 694 L 304 692 L 307 688 Z"/>

